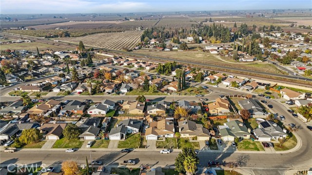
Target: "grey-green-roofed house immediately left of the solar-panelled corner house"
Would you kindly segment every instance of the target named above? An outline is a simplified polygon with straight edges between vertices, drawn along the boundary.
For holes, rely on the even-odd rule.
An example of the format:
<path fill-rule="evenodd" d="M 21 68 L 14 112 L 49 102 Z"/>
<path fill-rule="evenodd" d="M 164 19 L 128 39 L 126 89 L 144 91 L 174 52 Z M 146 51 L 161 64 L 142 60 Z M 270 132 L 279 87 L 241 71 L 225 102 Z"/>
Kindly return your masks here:
<path fill-rule="evenodd" d="M 238 120 L 224 123 L 223 126 L 218 127 L 221 139 L 224 141 L 234 141 L 235 138 L 249 139 L 251 135 L 246 125 Z"/>

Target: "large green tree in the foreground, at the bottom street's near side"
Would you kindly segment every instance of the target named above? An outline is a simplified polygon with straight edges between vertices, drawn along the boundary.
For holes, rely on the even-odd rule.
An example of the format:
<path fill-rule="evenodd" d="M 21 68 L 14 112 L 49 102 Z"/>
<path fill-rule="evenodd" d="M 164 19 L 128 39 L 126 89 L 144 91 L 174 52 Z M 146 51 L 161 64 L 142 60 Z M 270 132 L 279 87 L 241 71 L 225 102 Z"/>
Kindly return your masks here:
<path fill-rule="evenodd" d="M 182 152 L 180 152 L 176 157 L 175 162 L 175 170 L 178 173 L 185 174 L 186 169 L 184 166 L 184 160 L 188 157 L 189 160 L 192 160 L 192 162 L 196 165 L 199 163 L 199 158 L 196 156 L 195 149 L 194 148 L 182 148 Z M 188 169 L 188 168 L 187 168 Z M 195 167 L 196 169 L 196 167 Z"/>

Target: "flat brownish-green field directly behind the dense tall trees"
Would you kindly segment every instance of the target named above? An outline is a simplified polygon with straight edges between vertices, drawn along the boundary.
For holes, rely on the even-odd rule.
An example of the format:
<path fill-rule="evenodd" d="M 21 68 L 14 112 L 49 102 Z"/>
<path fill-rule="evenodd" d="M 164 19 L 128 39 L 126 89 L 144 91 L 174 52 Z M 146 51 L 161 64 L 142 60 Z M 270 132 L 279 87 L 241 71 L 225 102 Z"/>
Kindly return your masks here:
<path fill-rule="evenodd" d="M 179 28 L 190 28 L 192 24 L 197 24 L 195 21 L 192 21 L 191 18 L 184 16 L 165 16 L 160 19 L 156 24 L 156 27 L 165 27 L 166 29 L 179 29 Z"/>

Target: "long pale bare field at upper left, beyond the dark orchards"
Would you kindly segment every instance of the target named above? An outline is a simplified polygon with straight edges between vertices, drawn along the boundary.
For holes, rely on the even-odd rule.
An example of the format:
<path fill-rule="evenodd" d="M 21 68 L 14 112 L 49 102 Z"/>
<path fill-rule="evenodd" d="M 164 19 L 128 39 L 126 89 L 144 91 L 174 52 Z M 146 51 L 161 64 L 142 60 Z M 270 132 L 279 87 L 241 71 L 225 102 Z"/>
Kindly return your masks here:
<path fill-rule="evenodd" d="M 122 23 L 123 21 L 75 21 L 75 22 L 60 22 L 54 24 L 44 24 L 44 25 L 35 25 L 28 26 L 28 28 L 34 28 L 37 30 L 42 29 L 102 29 L 110 28 L 114 24 Z"/>

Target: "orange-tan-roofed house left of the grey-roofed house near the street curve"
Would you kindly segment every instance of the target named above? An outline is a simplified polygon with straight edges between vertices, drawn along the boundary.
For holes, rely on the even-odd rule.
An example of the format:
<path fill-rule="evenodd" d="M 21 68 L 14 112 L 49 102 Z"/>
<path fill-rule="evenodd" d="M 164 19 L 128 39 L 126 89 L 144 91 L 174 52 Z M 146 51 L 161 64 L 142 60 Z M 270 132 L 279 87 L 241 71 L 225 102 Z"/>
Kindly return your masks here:
<path fill-rule="evenodd" d="M 230 112 L 229 101 L 221 98 L 215 99 L 215 102 L 208 104 L 209 113 L 212 115 L 223 115 Z"/>

